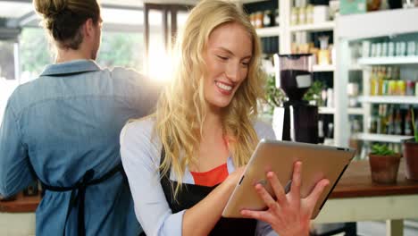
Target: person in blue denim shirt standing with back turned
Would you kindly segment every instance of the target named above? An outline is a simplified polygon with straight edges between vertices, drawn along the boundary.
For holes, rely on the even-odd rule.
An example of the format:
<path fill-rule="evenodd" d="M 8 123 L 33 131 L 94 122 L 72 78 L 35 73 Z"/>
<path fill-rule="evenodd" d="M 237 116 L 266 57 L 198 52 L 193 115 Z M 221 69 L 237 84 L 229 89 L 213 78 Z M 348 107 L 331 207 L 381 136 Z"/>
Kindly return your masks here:
<path fill-rule="evenodd" d="M 95 63 L 102 32 L 96 0 L 33 4 L 56 58 L 9 98 L 0 127 L 0 194 L 43 183 L 37 235 L 138 235 L 119 137 L 130 118 L 150 114 L 156 90 L 137 72 Z"/>

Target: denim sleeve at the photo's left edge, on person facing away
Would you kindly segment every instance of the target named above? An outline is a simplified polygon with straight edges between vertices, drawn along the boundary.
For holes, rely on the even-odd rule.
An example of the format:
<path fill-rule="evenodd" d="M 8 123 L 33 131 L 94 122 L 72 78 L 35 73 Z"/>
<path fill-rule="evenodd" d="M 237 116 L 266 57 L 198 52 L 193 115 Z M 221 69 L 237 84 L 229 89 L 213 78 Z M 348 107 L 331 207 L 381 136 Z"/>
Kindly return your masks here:
<path fill-rule="evenodd" d="M 34 181 L 21 129 L 9 103 L 0 127 L 0 194 L 9 197 Z"/>

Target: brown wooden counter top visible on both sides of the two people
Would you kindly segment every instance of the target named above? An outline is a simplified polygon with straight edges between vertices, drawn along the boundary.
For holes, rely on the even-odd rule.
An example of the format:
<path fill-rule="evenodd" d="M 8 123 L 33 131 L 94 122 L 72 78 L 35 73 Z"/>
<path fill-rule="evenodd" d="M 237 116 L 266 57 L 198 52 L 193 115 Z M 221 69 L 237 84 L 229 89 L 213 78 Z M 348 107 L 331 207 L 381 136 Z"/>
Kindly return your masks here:
<path fill-rule="evenodd" d="M 343 174 L 330 198 L 359 198 L 389 195 L 418 194 L 418 181 L 405 179 L 405 164 L 401 162 L 397 173 L 397 183 L 393 185 L 372 182 L 368 161 L 351 163 Z M 13 201 L 0 201 L 0 212 L 35 212 L 41 197 L 24 197 L 19 194 Z"/>

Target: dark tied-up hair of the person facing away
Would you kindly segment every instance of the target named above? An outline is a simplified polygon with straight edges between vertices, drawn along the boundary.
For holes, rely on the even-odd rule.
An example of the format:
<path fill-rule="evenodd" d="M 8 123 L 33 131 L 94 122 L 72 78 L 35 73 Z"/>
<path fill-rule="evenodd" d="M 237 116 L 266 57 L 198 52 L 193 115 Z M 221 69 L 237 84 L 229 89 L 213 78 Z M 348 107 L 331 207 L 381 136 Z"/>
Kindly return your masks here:
<path fill-rule="evenodd" d="M 33 0 L 35 10 L 44 19 L 44 28 L 58 46 L 78 49 L 83 40 L 80 27 L 89 18 L 100 20 L 100 6 L 96 0 Z"/>

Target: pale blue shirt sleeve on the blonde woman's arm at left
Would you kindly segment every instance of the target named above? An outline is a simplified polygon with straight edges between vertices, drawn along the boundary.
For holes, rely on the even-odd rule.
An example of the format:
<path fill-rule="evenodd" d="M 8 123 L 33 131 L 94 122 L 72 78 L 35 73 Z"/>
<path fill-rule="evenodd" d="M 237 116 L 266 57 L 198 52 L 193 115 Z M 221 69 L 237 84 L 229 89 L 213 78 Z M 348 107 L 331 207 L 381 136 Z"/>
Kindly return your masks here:
<path fill-rule="evenodd" d="M 132 122 L 121 131 L 121 160 L 146 235 L 181 235 L 184 211 L 172 214 L 159 174 L 158 144 L 151 141 L 154 122 Z"/>

